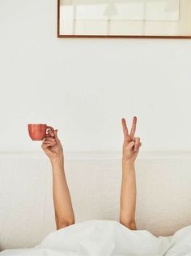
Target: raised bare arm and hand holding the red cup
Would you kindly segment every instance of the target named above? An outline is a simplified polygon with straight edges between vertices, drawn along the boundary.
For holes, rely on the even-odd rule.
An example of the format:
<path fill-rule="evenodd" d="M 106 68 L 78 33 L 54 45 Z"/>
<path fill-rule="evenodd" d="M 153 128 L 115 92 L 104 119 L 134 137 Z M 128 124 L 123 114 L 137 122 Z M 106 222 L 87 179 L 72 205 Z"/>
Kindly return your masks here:
<path fill-rule="evenodd" d="M 66 182 L 64 154 L 57 130 L 48 131 L 49 135 L 42 143 L 42 149 L 50 159 L 53 170 L 53 204 L 57 229 L 65 228 L 74 223 L 74 211 L 70 191 Z"/>

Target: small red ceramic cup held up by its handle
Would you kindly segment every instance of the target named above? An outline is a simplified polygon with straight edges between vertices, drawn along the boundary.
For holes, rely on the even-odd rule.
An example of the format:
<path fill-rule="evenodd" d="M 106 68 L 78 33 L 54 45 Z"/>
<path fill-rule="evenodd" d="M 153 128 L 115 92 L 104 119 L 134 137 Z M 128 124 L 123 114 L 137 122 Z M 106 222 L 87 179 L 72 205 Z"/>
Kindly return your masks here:
<path fill-rule="evenodd" d="M 28 124 L 28 133 L 32 141 L 42 141 L 46 137 L 47 129 L 54 129 L 46 124 Z"/>

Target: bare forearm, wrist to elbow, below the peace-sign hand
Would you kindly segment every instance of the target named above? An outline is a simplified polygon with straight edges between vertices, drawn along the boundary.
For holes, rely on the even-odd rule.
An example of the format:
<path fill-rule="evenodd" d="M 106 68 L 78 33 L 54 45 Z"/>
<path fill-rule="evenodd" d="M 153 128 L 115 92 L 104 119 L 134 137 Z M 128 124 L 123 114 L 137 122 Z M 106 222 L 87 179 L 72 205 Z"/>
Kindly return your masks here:
<path fill-rule="evenodd" d="M 136 229 L 136 175 L 134 163 L 122 161 L 120 223 L 127 228 Z"/>

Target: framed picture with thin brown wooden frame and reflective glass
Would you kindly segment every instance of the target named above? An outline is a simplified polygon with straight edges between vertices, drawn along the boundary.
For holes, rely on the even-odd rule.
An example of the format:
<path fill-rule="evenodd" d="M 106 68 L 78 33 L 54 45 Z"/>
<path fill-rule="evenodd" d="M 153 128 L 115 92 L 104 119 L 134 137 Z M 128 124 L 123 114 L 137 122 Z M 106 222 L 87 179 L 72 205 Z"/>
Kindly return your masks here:
<path fill-rule="evenodd" d="M 57 0 L 57 37 L 191 38 L 191 0 Z"/>

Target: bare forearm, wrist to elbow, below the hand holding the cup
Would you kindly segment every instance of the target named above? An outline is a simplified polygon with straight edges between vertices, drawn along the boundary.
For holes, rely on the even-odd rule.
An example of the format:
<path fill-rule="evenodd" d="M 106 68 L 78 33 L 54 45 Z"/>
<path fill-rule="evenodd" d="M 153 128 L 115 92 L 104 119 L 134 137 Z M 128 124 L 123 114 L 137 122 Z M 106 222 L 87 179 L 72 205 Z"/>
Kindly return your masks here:
<path fill-rule="evenodd" d="M 74 211 L 62 159 L 51 161 L 53 169 L 53 204 L 57 229 L 74 223 Z"/>

